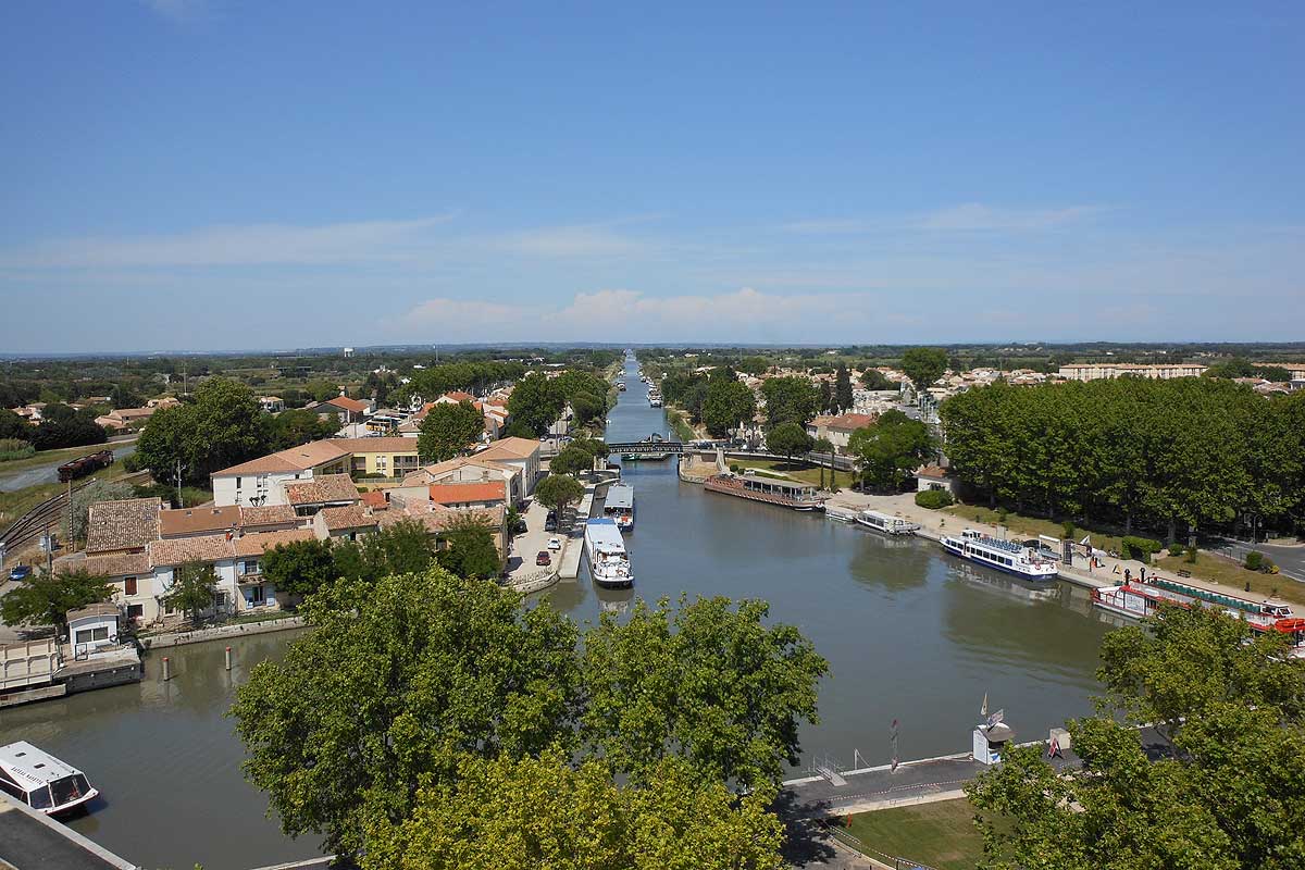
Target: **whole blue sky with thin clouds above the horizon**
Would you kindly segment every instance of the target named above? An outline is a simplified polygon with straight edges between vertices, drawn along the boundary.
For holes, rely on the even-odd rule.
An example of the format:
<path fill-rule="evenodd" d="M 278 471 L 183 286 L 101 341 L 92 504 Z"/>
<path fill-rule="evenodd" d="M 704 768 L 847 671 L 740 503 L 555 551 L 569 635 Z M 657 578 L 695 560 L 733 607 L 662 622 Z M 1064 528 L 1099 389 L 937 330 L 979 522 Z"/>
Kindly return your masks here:
<path fill-rule="evenodd" d="M 1305 339 L 1301 4 L 706 5 L 0 4 L 0 352 Z"/>

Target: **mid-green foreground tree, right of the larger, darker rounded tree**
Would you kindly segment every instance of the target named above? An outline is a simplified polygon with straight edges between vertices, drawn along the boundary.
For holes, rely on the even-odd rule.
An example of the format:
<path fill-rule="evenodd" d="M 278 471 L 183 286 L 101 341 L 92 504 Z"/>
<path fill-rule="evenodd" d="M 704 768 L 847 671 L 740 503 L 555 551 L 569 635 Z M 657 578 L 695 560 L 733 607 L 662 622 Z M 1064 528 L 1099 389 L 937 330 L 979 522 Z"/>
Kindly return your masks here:
<path fill-rule="evenodd" d="M 675 610 L 641 601 L 624 622 L 604 613 L 585 638 L 586 745 L 636 781 L 679 754 L 703 780 L 778 785 L 800 721 L 818 721 L 829 664 L 769 610 L 681 597 Z"/>

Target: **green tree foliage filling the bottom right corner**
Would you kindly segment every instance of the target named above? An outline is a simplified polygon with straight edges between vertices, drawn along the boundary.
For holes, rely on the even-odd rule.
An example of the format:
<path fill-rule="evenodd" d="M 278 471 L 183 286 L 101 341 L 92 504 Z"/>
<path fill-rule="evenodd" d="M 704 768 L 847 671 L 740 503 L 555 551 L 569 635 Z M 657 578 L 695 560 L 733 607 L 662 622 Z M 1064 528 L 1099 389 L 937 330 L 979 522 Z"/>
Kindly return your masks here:
<path fill-rule="evenodd" d="M 1302 866 L 1305 665 L 1285 646 L 1216 610 L 1169 607 L 1107 635 L 1105 708 L 1069 723 L 1082 772 L 1057 775 L 1039 747 L 1023 747 L 967 787 L 981 866 Z M 1169 757 L 1147 758 L 1130 727 L 1142 721 L 1161 724 Z"/>

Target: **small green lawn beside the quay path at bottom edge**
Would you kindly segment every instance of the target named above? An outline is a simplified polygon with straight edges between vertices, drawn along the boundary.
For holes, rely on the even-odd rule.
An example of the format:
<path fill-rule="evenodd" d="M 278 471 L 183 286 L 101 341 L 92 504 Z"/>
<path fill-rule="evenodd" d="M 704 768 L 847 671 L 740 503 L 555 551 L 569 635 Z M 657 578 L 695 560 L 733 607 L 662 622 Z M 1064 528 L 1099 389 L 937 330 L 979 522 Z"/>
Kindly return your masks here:
<path fill-rule="evenodd" d="M 897 858 L 938 870 L 974 870 L 983 857 L 974 817 L 970 801 L 958 798 L 861 813 L 852 817 L 848 831 L 868 848 Z"/>

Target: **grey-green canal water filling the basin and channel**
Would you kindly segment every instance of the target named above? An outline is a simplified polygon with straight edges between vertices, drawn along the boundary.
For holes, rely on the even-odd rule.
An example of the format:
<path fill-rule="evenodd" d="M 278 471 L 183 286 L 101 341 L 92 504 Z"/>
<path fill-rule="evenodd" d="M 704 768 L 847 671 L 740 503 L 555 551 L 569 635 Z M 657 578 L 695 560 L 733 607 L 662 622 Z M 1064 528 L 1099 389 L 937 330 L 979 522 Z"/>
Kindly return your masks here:
<path fill-rule="evenodd" d="M 633 363 L 625 380 L 608 440 L 668 434 Z M 799 768 L 816 757 L 850 768 L 853 753 L 887 762 L 894 719 L 902 759 L 968 751 L 985 694 L 1024 740 L 1092 710 L 1111 623 L 1077 587 L 1034 587 L 929 541 L 709 493 L 680 483 L 673 459 L 626 463 L 624 477 L 636 490 L 634 590 L 600 591 L 582 573 L 536 597 L 579 621 L 636 596 L 766 599 L 771 618 L 799 626 L 833 670 Z M 72 826 L 144 866 L 244 870 L 312 857 L 315 839 L 290 840 L 264 818 L 224 717 L 248 668 L 281 656 L 295 634 L 232 643 L 231 673 L 224 643 L 179 647 L 168 683 L 154 653 L 137 686 L 0 712 L 0 742 L 30 740 L 85 770 L 104 798 Z"/>

